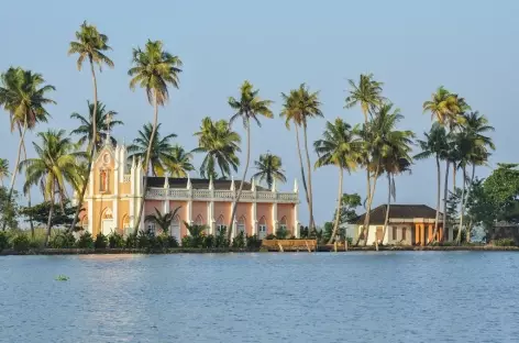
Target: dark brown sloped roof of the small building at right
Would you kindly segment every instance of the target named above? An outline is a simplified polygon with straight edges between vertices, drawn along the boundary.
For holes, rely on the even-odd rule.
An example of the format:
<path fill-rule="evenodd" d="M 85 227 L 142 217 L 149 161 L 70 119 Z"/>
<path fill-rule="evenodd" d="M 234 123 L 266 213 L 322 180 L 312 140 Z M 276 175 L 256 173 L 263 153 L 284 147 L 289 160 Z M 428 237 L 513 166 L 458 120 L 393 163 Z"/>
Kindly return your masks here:
<path fill-rule="evenodd" d="M 379 207 L 372 210 L 369 213 L 369 224 L 382 225 L 386 219 L 386 208 L 387 204 L 380 204 Z M 356 224 L 363 224 L 366 213 L 360 215 L 356 220 Z M 443 217 L 440 212 L 440 219 Z M 424 218 L 424 219 L 435 219 L 437 210 L 427 206 L 427 204 L 393 204 L 389 206 L 389 219 L 400 218 L 400 219 L 413 219 L 413 218 Z"/>

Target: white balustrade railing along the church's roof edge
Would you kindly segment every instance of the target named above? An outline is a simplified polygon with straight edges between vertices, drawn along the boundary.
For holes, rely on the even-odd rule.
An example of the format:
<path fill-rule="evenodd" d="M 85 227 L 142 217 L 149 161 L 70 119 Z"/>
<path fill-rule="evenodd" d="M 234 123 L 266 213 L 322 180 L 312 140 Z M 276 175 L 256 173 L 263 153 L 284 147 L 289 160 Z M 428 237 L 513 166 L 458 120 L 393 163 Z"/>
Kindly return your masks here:
<path fill-rule="evenodd" d="M 238 191 L 209 190 L 209 189 L 164 189 L 148 188 L 146 199 L 150 200 L 200 200 L 200 201 L 233 201 Z M 242 202 L 299 202 L 299 196 L 295 192 L 272 191 L 242 191 Z"/>

